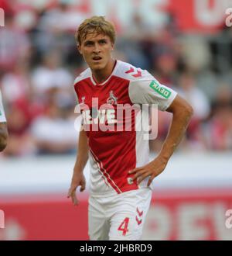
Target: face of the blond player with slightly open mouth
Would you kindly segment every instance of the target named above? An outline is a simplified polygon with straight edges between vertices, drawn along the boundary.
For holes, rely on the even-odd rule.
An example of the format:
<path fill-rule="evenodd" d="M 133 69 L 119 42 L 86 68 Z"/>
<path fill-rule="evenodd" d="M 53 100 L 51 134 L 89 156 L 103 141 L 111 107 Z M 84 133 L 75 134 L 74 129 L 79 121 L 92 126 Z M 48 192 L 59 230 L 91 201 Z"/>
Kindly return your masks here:
<path fill-rule="evenodd" d="M 78 46 L 80 54 L 92 71 L 104 70 L 111 61 L 113 43 L 109 36 L 89 33 Z"/>

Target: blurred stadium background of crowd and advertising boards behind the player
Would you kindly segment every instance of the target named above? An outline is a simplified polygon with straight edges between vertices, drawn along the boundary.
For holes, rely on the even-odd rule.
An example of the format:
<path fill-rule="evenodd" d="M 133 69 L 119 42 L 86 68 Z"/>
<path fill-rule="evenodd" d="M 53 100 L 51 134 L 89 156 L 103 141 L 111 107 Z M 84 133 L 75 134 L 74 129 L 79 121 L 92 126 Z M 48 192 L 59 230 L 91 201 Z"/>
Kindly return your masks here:
<path fill-rule="evenodd" d="M 10 135 L 0 155 L 0 240 L 88 239 L 88 191 L 78 207 L 66 196 L 78 138 L 72 85 L 86 68 L 73 34 L 94 15 L 114 22 L 115 57 L 147 69 L 194 109 L 186 137 L 155 180 L 143 239 L 232 240 L 225 225 L 232 209 L 232 29 L 225 12 L 232 1 L 0 0 L 0 7 Z M 151 159 L 170 118 L 159 112 Z"/>

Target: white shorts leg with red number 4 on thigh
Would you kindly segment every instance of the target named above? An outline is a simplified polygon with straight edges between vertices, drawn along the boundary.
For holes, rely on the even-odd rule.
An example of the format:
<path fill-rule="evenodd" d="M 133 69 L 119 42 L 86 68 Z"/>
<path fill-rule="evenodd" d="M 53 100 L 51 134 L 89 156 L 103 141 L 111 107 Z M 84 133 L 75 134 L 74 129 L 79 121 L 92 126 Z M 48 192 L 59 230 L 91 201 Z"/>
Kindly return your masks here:
<path fill-rule="evenodd" d="M 115 204 L 111 217 L 110 240 L 140 240 L 152 192 L 141 189 L 126 192 Z"/>

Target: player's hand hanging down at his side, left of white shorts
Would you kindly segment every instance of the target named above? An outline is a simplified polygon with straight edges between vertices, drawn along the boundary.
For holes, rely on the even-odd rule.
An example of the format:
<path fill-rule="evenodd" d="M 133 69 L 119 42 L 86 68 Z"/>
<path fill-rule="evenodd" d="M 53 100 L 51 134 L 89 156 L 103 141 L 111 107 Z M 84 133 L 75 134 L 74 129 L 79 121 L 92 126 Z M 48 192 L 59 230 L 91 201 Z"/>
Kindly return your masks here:
<path fill-rule="evenodd" d="M 83 173 L 80 173 L 80 174 L 74 173 L 73 174 L 73 178 L 72 178 L 72 182 L 70 185 L 70 189 L 67 194 L 67 198 L 69 199 L 71 197 L 74 206 L 79 205 L 79 201 L 78 201 L 77 195 L 76 195 L 77 187 L 80 186 L 80 192 L 83 192 L 85 189 L 85 184 L 86 184 L 86 182 L 85 182 Z"/>

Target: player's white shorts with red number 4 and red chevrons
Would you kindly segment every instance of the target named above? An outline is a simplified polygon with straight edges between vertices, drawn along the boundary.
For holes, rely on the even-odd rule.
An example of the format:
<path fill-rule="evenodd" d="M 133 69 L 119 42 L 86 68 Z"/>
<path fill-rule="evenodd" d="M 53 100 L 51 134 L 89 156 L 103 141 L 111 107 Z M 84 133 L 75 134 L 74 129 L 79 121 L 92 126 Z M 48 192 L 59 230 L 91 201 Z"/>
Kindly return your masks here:
<path fill-rule="evenodd" d="M 140 240 L 151 199 L 149 188 L 108 197 L 90 196 L 90 240 Z"/>

